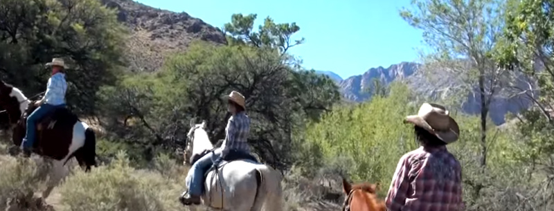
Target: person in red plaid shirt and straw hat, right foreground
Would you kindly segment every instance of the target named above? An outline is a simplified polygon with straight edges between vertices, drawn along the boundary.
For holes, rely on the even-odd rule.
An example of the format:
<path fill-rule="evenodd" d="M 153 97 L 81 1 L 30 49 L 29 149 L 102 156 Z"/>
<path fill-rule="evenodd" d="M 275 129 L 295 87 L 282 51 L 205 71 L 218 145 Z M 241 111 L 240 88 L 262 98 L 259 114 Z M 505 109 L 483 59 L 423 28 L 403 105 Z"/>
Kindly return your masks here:
<path fill-rule="evenodd" d="M 386 196 L 391 211 L 464 210 L 462 172 L 446 145 L 458 140 L 460 129 L 445 107 L 424 103 L 418 115 L 404 123 L 414 125 L 418 149 L 398 162 Z"/>

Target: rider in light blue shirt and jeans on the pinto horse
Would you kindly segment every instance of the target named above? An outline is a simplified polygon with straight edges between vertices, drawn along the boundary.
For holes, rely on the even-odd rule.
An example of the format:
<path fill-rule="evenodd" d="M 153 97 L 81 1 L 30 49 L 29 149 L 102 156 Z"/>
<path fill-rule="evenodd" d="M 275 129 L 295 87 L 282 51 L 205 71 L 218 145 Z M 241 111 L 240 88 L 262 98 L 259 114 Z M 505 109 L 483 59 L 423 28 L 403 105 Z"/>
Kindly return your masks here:
<path fill-rule="evenodd" d="M 33 148 L 37 121 L 58 107 L 65 106 L 65 93 L 67 89 L 65 70 L 67 66 L 64 60 L 60 58 L 53 58 L 52 62 L 46 63 L 46 66 L 52 68 L 52 75 L 48 79 L 44 97 L 35 104 L 39 107 L 27 117 L 26 136 L 23 143 L 21 143 L 21 148 L 26 156 L 30 155 L 30 151 Z"/>

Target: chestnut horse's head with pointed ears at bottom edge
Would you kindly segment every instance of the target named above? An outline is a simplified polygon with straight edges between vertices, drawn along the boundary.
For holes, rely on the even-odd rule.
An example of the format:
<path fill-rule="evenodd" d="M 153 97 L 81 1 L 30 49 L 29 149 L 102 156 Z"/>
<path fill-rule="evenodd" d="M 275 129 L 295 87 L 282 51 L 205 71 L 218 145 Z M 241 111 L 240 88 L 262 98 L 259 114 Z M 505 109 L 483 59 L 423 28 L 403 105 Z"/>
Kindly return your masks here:
<path fill-rule="evenodd" d="M 351 184 L 342 178 L 343 192 L 346 199 L 343 204 L 343 211 L 385 211 L 384 201 L 377 199 L 377 191 L 380 184 L 359 183 Z"/>

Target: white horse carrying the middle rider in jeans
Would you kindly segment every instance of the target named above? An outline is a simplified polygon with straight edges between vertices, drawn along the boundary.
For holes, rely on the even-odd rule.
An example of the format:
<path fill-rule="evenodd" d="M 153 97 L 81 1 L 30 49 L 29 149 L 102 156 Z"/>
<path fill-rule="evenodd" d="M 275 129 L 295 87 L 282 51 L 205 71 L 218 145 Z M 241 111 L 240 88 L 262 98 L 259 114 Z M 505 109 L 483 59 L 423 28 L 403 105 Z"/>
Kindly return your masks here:
<path fill-rule="evenodd" d="M 184 150 L 185 162 L 199 156 L 205 150 L 213 149 L 208 134 L 204 130 L 206 122 L 195 125 L 190 121 L 187 145 Z M 186 182 L 191 179 L 188 171 Z M 275 169 L 256 163 L 253 160 L 223 161 L 217 171 L 211 169 L 206 174 L 202 204 L 216 210 L 283 210 L 282 176 Z M 223 188 L 222 188 L 223 187 Z M 222 192 L 223 190 L 223 192 Z"/>

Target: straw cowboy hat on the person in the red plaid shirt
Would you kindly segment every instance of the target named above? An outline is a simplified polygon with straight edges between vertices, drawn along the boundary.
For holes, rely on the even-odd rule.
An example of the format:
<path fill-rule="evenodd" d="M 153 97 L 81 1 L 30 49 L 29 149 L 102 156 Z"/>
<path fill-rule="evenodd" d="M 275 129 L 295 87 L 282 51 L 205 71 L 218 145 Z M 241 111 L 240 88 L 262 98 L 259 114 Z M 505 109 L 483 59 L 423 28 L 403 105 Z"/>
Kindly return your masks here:
<path fill-rule="evenodd" d="M 460 128 L 458 123 L 449 116 L 449 111 L 440 104 L 424 103 L 418 115 L 407 116 L 404 123 L 412 123 L 426 129 L 445 143 L 458 140 Z"/>

